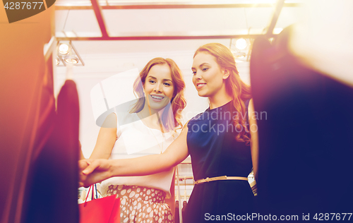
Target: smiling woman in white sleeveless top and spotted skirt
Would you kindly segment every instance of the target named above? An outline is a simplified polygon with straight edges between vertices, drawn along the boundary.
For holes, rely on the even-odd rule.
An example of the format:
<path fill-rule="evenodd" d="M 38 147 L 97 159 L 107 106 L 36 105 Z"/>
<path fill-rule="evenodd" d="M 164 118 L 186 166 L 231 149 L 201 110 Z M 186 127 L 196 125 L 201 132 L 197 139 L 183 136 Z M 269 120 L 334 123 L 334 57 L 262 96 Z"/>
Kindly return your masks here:
<path fill-rule="evenodd" d="M 107 116 L 90 159 L 162 153 L 181 128 L 184 88 L 181 71 L 172 59 L 150 60 L 133 84 L 138 99 L 128 111 Z M 174 167 L 147 176 L 112 177 L 102 181 L 101 192 L 121 198 L 121 222 L 173 222 L 173 177 Z M 167 203 L 165 198 L 169 198 Z"/>

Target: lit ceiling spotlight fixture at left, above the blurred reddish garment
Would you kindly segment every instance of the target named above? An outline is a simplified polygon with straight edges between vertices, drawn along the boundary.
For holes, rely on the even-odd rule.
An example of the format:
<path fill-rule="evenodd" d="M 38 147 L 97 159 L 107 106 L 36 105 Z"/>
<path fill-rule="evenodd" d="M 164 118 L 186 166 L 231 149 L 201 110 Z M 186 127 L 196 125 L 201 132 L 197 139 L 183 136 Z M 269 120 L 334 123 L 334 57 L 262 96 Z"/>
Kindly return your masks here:
<path fill-rule="evenodd" d="M 58 42 L 57 51 L 58 57 L 55 59 L 56 66 L 66 66 L 66 64 L 73 64 L 74 66 L 85 66 L 85 63 L 83 62 L 71 41 Z"/>

